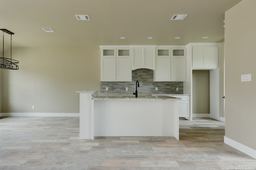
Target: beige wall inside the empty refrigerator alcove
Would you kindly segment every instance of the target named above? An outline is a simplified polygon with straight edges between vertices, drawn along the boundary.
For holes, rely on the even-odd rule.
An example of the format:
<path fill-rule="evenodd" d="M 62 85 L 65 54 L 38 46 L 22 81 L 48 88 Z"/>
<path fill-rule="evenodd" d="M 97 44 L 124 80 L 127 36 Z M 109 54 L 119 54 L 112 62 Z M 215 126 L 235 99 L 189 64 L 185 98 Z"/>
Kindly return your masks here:
<path fill-rule="evenodd" d="M 210 113 L 210 71 L 193 70 L 193 111 L 192 113 Z"/>

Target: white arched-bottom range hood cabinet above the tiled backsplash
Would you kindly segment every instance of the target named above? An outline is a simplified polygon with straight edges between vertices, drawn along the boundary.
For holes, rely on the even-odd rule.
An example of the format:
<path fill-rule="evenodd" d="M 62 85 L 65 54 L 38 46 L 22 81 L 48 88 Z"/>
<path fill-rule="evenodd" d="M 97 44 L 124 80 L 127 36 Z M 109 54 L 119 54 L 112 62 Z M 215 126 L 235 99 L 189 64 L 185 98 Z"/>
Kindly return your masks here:
<path fill-rule="evenodd" d="M 132 45 L 132 70 L 156 70 L 156 45 Z"/>

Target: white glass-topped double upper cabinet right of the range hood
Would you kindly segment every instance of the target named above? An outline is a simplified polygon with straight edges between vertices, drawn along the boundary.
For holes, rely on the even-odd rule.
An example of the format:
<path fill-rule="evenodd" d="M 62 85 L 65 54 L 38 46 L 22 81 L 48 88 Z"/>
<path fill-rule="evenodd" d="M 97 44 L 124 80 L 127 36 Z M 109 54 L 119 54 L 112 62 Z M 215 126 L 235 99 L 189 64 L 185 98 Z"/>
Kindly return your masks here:
<path fill-rule="evenodd" d="M 186 48 L 159 46 L 156 51 L 154 81 L 186 81 Z"/>

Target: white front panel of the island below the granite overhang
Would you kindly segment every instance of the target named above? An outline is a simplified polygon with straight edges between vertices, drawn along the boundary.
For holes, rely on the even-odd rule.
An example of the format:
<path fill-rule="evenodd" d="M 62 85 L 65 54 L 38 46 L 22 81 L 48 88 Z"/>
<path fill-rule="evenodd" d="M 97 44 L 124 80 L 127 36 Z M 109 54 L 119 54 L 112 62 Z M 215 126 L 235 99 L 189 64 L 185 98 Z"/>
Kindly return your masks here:
<path fill-rule="evenodd" d="M 178 100 L 94 100 L 94 136 L 171 136 L 179 140 Z"/>

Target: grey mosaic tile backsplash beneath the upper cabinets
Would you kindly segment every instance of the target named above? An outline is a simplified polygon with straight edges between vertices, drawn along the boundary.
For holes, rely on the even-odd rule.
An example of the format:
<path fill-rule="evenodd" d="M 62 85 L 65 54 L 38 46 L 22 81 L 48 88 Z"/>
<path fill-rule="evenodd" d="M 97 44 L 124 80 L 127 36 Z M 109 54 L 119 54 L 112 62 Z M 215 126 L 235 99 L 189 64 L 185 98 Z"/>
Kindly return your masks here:
<path fill-rule="evenodd" d="M 140 68 L 132 70 L 131 82 L 100 82 L 100 94 L 131 94 L 136 90 L 136 81 L 140 87 L 138 94 L 183 94 L 183 82 L 154 82 L 153 70 Z M 108 91 L 106 91 L 108 87 Z M 158 91 L 156 91 L 156 87 Z M 128 91 L 126 91 L 128 88 Z M 176 88 L 179 88 L 176 91 Z"/>

